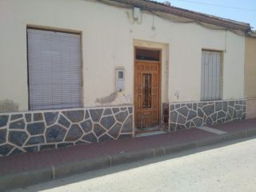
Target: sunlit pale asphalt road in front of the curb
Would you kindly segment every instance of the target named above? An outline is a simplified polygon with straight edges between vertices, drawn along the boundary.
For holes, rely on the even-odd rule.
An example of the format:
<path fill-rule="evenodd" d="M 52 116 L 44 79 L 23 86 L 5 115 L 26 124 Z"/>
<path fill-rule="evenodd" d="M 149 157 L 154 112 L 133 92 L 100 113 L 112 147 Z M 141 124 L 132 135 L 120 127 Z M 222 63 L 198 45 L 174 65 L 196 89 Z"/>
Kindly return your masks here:
<path fill-rule="evenodd" d="M 214 147 L 79 174 L 13 192 L 256 191 L 256 138 Z"/>

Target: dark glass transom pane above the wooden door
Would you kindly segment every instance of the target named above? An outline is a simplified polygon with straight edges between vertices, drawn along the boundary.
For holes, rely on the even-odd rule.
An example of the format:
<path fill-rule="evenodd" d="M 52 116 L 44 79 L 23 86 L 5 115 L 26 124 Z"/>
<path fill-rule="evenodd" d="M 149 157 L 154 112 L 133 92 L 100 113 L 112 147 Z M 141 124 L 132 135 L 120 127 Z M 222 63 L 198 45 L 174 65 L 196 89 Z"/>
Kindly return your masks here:
<path fill-rule="evenodd" d="M 148 60 L 148 61 L 160 61 L 160 51 L 136 49 L 136 59 Z"/>

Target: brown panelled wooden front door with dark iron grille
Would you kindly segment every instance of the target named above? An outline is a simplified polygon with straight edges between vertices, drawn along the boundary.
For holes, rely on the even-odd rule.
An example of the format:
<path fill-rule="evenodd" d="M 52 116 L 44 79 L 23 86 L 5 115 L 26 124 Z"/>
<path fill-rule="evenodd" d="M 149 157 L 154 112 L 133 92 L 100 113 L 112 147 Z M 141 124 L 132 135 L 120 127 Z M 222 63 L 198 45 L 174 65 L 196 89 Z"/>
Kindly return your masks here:
<path fill-rule="evenodd" d="M 140 130 L 159 128 L 160 61 L 135 60 L 134 64 L 135 127 Z"/>

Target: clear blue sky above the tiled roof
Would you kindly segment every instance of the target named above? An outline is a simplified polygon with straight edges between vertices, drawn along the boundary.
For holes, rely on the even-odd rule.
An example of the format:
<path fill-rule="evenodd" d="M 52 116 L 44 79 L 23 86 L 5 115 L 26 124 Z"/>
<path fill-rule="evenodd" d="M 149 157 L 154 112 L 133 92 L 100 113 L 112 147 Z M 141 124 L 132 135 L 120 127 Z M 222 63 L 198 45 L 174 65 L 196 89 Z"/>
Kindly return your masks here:
<path fill-rule="evenodd" d="M 165 2 L 166 0 L 155 0 Z M 256 0 L 170 0 L 171 6 L 250 23 L 256 30 Z"/>

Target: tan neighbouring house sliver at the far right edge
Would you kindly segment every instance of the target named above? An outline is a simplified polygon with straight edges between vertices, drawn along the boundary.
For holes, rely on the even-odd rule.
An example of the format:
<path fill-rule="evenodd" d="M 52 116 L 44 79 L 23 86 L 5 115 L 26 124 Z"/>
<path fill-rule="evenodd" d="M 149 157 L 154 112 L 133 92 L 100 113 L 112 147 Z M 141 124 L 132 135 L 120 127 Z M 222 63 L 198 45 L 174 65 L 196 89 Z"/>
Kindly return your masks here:
<path fill-rule="evenodd" d="M 246 37 L 245 54 L 245 97 L 247 100 L 246 118 L 256 118 L 256 33 Z"/>

